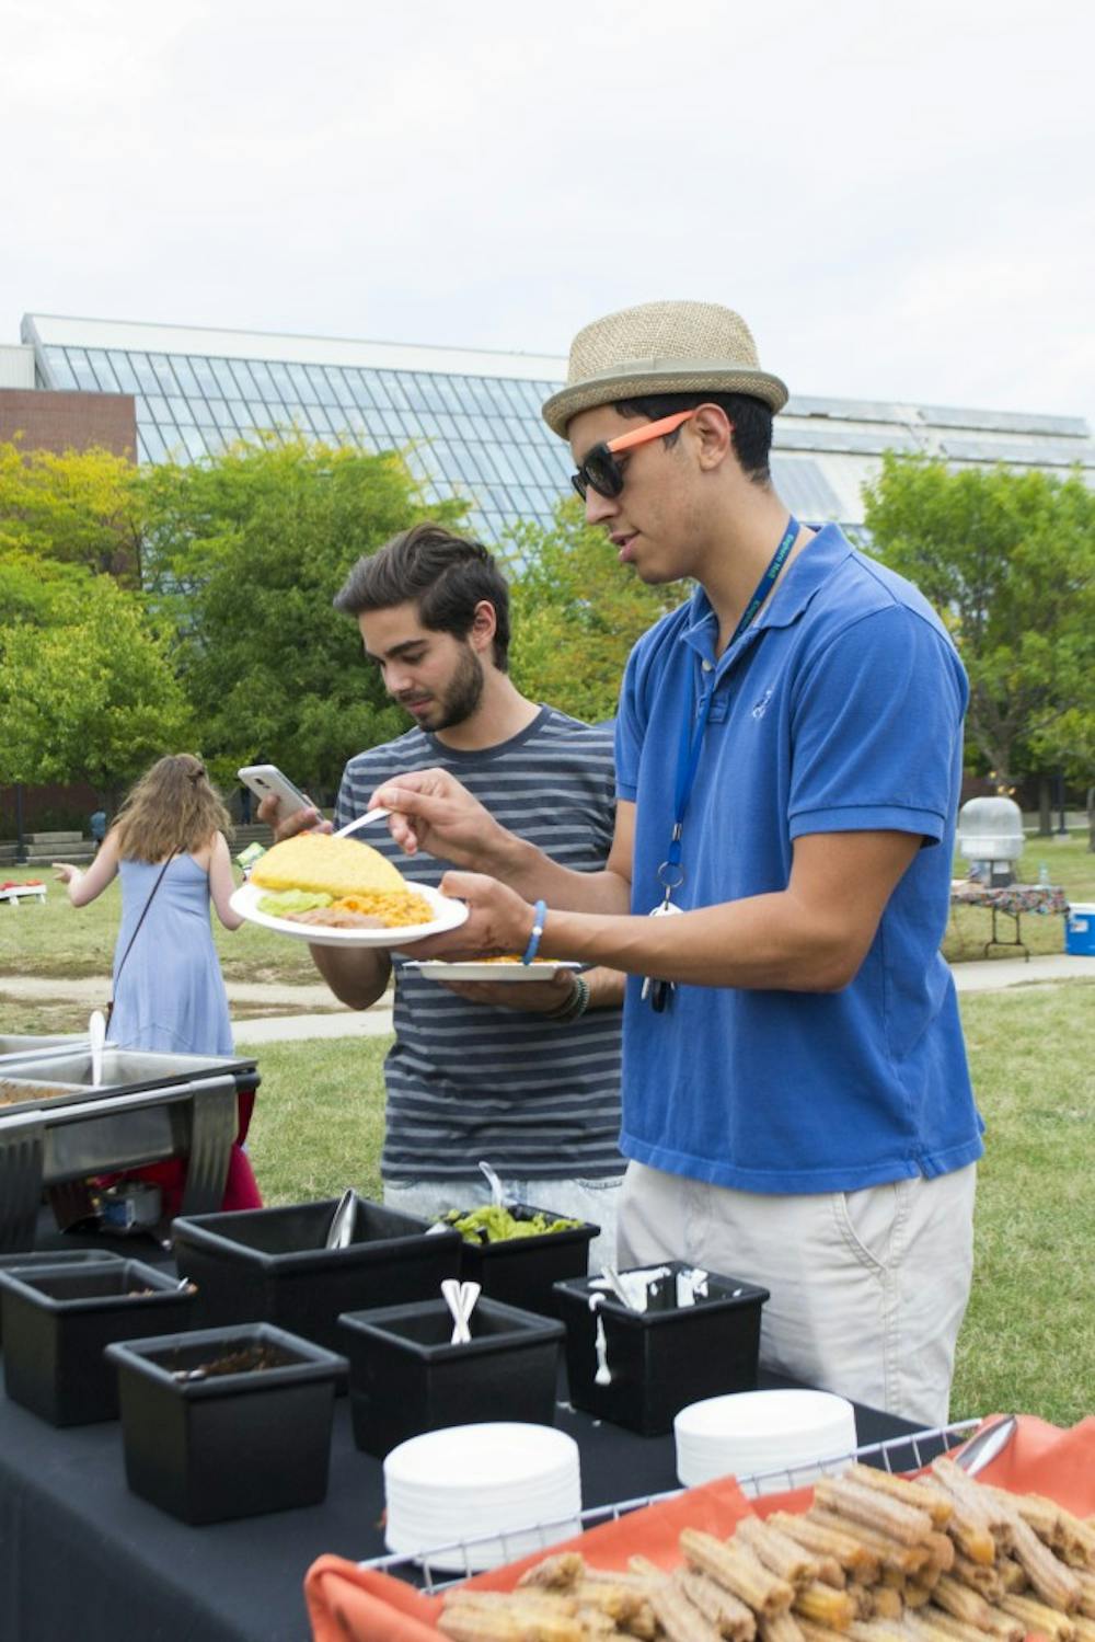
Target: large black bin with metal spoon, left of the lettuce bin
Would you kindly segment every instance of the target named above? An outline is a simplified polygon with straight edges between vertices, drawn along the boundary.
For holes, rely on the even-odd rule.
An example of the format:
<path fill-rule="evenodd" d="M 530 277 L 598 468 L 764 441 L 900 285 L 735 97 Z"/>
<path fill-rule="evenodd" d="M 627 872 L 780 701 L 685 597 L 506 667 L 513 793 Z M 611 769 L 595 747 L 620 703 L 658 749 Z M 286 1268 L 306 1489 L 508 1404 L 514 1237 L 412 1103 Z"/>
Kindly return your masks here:
<path fill-rule="evenodd" d="M 269 1322 L 340 1348 L 338 1314 L 433 1299 L 460 1271 L 460 1235 L 358 1200 L 353 1240 L 325 1248 L 338 1199 L 181 1217 L 174 1256 L 199 1291 L 197 1325 Z"/>

